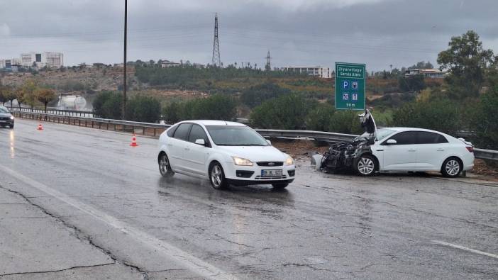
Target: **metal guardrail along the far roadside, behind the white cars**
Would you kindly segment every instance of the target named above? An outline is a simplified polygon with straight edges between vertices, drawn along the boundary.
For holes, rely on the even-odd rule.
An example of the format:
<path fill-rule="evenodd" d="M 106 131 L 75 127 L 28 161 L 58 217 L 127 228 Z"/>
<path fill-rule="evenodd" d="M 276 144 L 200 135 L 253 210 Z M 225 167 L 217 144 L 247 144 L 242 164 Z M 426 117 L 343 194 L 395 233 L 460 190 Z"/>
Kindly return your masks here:
<path fill-rule="evenodd" d="M 18 118 L 36 119 L 40 121 L 52 121 L 54 123 L 67 123 L 92 128 L 105 128 L 106 130 L 121 130 L 133 131 L 141 130 L 143 135 L 157 137 L 162 131 L 170 128 L 171 125 L 163 125 L 160 123 L 141 123 L 135 121 L 111 120 L 107 118 L 90 118 L 85 116 L 65 116 L 52 113 L 38 113 L 27 111 L 12 111 L 13 115 Z M 313 130 L 277 130 L 277 129 L 256 129 L 260 135 L 270 138 L 294 138 L 294 139 L 312 139 L 323 142 L 341 142 L 352 140 L 358 135 L 328 133 L 323 131 Z M 474 155 L 478 159 L 498 160 L 498 151 L 474 149 Z"/>

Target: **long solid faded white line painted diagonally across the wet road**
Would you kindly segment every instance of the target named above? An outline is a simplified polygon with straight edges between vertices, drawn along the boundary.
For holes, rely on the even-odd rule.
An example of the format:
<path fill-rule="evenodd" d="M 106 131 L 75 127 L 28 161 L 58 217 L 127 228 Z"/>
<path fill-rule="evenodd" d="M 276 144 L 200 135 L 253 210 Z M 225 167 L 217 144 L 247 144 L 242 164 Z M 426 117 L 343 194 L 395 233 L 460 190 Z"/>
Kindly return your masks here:
<path fill-rule="evenodd" d="M 194 257 L 192 254 L 184 252 L 183 250 L 180 250 L 178 247 L 175 247 L 170 243 L 153 237 L 152 235 L 138 230 L 137 228 L 133 228 L 133 226 L 128 225 L 128 223 L 123 223 L 121 220 L 118 220 L 114 216 L 99 211 L 93 206 L 89 206 L 85 203 L 82 203 L 81 201 L 77 201 L 76 199 L 71 198 L 66 194 L 62 194 L 60 191 L 52 189 L 49 186 L 45 186 L 45 184 L 26 177 L 23 174 L 9 169 L 8 167 L 4 167 L 1 164 L 0 169 L 6 174 L 9 174 L 14 178 L 23 181 L 29 186 L 33 186 L 33 188 L 43 191 L 45 194 L 54 196 L 60 201 L 67 203 L 70 206 L 73 206 L 74 208 L 77 208 L 80 211 L 87 213 L 98 220 L 101 220 L 111 227 L 116 228 L 117 230 L 121 230 L 121 232 L 123 233 L 127 233 L 136 240 L 143 242 L 145 245 L 148 245 L 149 247 L 152 247 L 153 249 L 166 254 L 168 257 L 175 259 L 178 264 L 187 267 L 191 271 L 199 274 L 202 277 L 205 277 L 206 279 L 237 279 L 236 276 L 228 274 L 226 271 L 218 269 L 212 264 L 204 262 L 202 259 Z"/>

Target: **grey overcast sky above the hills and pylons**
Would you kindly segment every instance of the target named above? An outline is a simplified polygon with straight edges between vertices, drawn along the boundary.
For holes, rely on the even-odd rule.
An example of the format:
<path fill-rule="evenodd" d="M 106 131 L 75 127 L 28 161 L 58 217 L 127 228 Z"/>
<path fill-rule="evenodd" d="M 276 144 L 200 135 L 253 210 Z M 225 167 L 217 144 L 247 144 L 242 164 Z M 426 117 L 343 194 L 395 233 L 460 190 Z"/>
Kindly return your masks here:
<path fill-rule="evenodd" d="M 65 65 L 123 60 L 124 0 L 0 0 L 0 57 L 63 52 Z M 498 52 L 497 0 L 128 0 L 128 60 L 209 63 L 214 14 L 221 61 L 272 66 L 436 62 L 475 30 Z"/>

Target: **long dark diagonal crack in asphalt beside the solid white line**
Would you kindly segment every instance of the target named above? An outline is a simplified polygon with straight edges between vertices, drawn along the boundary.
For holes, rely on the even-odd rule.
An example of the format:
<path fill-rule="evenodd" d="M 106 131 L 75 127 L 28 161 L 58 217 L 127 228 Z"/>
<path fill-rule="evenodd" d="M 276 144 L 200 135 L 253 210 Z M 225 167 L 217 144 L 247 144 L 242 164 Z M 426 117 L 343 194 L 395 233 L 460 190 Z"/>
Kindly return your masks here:
<path fill-rule="evenodd" d="M 96 249 L 100 250 L 101 252 L 103 252 L 104 254 L 106 254 L 108 257 L 110 257 L 113 261 L 114 261 L 114 264 L 116 263 L 120 263 L 120 264 L 123 264 L 125 265 L 126 267 L 130 267 L 132 269 L 135 269 L 136 271 L 138 271 L 140 274 L 142 274 L 142 277 L 144 280 L 148 280 L 149 279 L 149 276 L 147 274 L 147 271 L 144 271 L 143 269 L 140 269 L 140 267 L 137 267 L 133 264 L 129 264 L 127 263 L 124 259 L 120 259 L 119 257 L 116 256 L 116 254 L 114 254 L 113 252 L 111 252 L 110 250 L 107 250 L 106 248 L 102 247 L 101 245 L 98 245 L 94 242 L 94 240 L 92 240 L 92 237 L 90 237 L 89 235 L 85 235 L 83 233 L 82 230 L 80 230 L 79 228 L 77 228 L 76 226 L 74 225 L 71 225 L 70 223 L 67 223 L 67 221 L 65 220 L 62 220 L 61 216 L 57 216 L 55 214 L 52 214 L 50 212 L 48 212 L 47 210 L 45 210 L 45 208 L 43 208 L 42 206 L 40 206 L 39 204 L 33 202 L 30 200 L 30 198 L 28 196 L 25 196 L 24 194 L 22 194 L 21 192 L 19 191 L 14 191 L 12 189 L 8 189 L 4 186 L 1 186 L 0 185 L 0 188 L 1 189 L 4 189 L 6 191 L 9 191 L 13 194 L 17 194 L 18 196 L 21 196 L 22 198 L 24 198 L 24 200 L 26 200 L 29 204 L 31 204 L 32 206 L 35 206 L 36 208 L 40 209 L 40 211 L 42 211 L 43 213 L 45 213 L 46 215 L 49 215 L 50 217 L 52 218 L 55 218 L 55 220 L 58 220 L 60 221 L 60 223 L 62 223 L 62 225 L 65 225 L 66 228 L 70 228 L 74 231 L 74 236 L 78 239 L 78 240 L 81 240 L 81 241 L 86 241 L 89 243 L 89 245 L 92 245 L 92 247 L 95 247 Z M 31 273 L 31 272 L 26 272 L 26 273 Z M 2 275 L 0 275 L 2 276 Z"/>

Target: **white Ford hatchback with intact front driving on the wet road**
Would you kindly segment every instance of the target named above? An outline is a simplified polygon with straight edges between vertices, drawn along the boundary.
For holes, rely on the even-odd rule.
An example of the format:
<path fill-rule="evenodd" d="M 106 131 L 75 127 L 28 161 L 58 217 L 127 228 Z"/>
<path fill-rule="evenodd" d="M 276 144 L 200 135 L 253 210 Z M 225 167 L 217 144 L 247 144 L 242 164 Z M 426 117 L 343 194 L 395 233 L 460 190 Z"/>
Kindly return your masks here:
<path fill-rule="evenodd" d="M 163 177 L 179 173 L 206 178 L 214 189 L 228 185 L 271 184 L 283 189 L 294 181 L 294 160 L 242 123 L 183 121 L 159 138 L 157 162 Z"/>

